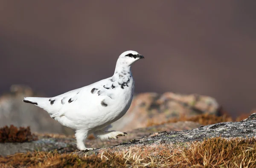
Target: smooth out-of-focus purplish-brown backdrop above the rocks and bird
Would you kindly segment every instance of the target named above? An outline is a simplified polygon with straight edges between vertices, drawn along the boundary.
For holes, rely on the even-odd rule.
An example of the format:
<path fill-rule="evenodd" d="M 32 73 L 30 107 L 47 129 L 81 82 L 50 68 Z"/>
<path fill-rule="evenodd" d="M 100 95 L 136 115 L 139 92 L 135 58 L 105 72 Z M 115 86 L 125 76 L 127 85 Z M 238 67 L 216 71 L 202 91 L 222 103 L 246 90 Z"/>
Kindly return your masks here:
<path fill-rule="evenodd" d="M 111 76 L 126 50 L 135 92 L 197 93 L 231 116 L 256 107 L 256 1 L 1 1 L 0 94 L 56 96 Z M 28 105 L 28 104 L 26 104 Z"/>

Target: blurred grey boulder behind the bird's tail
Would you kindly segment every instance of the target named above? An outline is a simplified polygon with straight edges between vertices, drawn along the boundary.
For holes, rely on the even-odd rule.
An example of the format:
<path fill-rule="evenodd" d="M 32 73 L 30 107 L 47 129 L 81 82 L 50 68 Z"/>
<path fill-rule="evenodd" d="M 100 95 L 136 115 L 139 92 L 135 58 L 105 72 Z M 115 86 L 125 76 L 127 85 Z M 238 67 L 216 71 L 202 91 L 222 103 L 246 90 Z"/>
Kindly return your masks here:
<path fill-rule="evenodd" d="M 22 101 L 25 96 L 43 95 L 34 93 L 30 87 L 23 85 L 12 85 L 10 91 L 0 97 L 0 127 L 5 125 L 30 126 L 32 132 L 74 133 L 70 128 L 52 119 L 45 110 Z"/>

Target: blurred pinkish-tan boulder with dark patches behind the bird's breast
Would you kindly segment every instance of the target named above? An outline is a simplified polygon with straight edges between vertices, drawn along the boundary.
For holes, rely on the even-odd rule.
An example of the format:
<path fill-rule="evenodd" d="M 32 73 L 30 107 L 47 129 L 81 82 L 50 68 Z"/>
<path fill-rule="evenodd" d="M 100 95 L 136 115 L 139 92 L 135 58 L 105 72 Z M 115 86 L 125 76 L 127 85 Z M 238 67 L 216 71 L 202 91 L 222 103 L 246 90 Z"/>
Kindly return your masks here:
<path fill-rule="evenodd" d="M 218 115 L 220 106 L 214 98 L 167 92 L 141 93 L 134 97 L 128 112 L 112 124 L 113 130 L 128 131 L 147 127 L 148 122 L 162 123 L 180 116 L 209 113 Z"/>

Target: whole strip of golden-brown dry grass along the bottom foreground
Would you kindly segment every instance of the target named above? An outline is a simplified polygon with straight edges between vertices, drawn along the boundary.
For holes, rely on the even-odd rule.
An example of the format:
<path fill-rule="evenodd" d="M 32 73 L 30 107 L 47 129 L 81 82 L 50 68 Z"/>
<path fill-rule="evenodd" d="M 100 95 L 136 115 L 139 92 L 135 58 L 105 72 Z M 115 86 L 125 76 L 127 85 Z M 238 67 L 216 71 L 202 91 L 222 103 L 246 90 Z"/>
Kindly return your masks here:
<path fill-rule="evenodd" d="M 159 154 L 138 153 L 131 149 L 123 153 L 105 151 L 99 156 L 79 157 L 74 154 L 58 154 L 57 152 L 34 152 L 14 154 L 1 157 L 0 166 L 16 167 L 243 167 L 256 165 L 256 139 L 223 139 L 212 138 L 203 142 L 195 142 L 189 147 L 177 147 L 179 150 L 162 150 Z"/>

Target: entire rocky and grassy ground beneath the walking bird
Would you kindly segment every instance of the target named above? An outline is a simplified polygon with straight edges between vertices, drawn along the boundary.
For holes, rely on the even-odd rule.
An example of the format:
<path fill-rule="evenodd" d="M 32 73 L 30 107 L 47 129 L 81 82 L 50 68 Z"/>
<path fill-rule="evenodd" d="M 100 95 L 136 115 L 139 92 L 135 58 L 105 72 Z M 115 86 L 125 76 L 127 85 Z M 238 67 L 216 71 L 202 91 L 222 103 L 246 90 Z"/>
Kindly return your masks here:
<path fill-rule="evenodd" d="M 254 119 L 255 114 L 244 121 L 223 121 L 212 125 L 202 125 L 192 121 L 163 123 L 130 131 L 128 136 L 111 141 L 100 141 L 90 136 L 87 145 L 93 148 L 97 146 L 99 149 L 89 152 L 77 151 L 73 136 L 32 134 L 38 140 L 1 143 L 2 152 L 3 149 L 6 151 L 16 147 L 22 149 L 23 151 L 20 152 L 23 153 L 8 156 L 4 153 L 5 156 L 0 156 L 0 165 L 6 168 L 80 166 L 249 168 L 256 165 L 256 120 Z"/>

